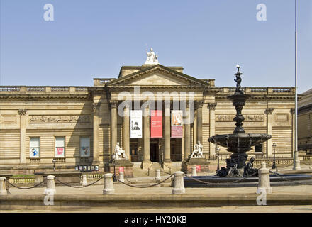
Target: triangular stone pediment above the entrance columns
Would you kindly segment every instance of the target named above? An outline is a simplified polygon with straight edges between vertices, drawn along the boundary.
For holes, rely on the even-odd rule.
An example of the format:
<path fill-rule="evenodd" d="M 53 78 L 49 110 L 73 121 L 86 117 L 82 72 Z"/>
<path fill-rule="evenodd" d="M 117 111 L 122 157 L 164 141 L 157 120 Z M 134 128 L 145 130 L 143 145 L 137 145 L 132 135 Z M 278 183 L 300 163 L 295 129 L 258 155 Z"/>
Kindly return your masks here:
<path fill-rule="evenodd" d="M 177 72 L 163 65 L 153 65 L 138 72 L 119 77 L 106 84 L 108 87 L 115 86 L 195 86 L 206 87 L 208 84 L 201 79 Z"/>

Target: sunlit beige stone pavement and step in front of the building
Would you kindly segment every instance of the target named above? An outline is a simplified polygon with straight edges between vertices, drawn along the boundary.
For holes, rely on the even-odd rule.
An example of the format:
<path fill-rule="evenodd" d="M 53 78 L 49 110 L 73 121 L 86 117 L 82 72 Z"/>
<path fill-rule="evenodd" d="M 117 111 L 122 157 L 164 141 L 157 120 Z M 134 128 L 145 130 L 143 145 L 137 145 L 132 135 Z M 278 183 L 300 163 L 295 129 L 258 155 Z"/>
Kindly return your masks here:
<path fill-rule="evenodd" d="M 162 176 L 166 179 L 168 176 Z M 129 179 L 132 186 L 155 184 L 155 177 Z M 257 206 L 257 187 L 186 188 L 172 194 L 171 180 L 160 187 L 136 188 L 114 183 L 114 194 L 103 195 L 103 181 L 84 188 L 57 186 L 54 205 L 45 206 L 45 187 L 9 188 L 0 196 L 0 212 L 105 212 L 105 213 L 223 213 L 223 212 L 312 212 L 312 185 L 272 187 L 267 205 Z"/>

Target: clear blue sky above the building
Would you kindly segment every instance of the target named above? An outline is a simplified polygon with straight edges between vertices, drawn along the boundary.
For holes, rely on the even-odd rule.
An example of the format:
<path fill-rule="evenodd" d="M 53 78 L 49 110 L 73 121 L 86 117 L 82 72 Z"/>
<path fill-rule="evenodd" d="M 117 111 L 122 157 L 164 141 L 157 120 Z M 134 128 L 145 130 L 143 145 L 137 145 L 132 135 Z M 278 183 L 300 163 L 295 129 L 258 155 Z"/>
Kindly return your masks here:
<path fill-rule="evenodd" d="M 257 21 L 257 4 L 267 21 Z M 312 1 L 299 3 L 299 93 L 312 88 Z M 44 21 L 53 4 L 55 21 Z M 253 87 L 294 87 L 294 0 L 0 0 L 0 85 L 92 86 L 160 64 L 234 86 L 235 65 Z"/>

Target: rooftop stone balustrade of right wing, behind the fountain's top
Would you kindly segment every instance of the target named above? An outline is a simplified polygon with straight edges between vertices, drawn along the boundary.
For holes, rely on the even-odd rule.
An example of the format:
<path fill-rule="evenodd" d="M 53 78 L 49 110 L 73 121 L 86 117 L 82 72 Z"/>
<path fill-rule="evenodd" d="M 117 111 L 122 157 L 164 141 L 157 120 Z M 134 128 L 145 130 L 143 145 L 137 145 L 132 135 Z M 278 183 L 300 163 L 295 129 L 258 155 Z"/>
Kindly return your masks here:
<path fill-rule="evenodd" d="M 221 87 L 218 94 L 233 94 L 235 87 Z M 294 87 L 243 87 L 245 94 L 295 94 Z"/>

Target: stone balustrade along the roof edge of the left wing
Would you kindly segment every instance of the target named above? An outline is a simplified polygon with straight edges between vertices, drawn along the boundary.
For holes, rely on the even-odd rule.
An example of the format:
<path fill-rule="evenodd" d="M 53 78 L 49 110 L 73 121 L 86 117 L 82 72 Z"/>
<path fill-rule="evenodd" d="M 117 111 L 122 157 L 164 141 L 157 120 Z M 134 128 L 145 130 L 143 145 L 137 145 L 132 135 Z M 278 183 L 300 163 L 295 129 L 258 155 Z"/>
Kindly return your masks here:
<path fill-rule="evenodd" d="M 88 94 L 88 87 L 50 87 L 50 86 L 0 86 L 0 94 Z"/>

